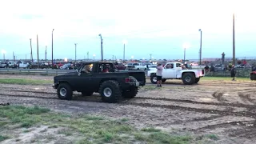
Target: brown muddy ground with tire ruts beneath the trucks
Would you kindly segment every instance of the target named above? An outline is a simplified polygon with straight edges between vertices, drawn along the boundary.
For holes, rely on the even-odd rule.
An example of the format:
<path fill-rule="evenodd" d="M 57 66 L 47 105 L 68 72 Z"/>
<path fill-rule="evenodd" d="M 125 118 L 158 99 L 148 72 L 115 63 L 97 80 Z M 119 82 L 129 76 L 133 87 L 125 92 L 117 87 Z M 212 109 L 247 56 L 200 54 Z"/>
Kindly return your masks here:
<path fill-rule="evenodd" d="M 0 78 L 52 79 L 49 76 L 0 75 Z M 216 143 L 256 142 L 256 82 L 201 81 L 185 86 L 166 81 L 162 89 L 148 81 L 134 99 L 118 104 L 101 102 L 98 94 L 73 101 L 59 100 L 51 84 L 21 86 L 0 84 L 0 102 L 46 106 L 70 114 L 101 114 L 110 118 L 129 118 L 130 124 L 155 126 L 166 131 L 216 134 Z"/>

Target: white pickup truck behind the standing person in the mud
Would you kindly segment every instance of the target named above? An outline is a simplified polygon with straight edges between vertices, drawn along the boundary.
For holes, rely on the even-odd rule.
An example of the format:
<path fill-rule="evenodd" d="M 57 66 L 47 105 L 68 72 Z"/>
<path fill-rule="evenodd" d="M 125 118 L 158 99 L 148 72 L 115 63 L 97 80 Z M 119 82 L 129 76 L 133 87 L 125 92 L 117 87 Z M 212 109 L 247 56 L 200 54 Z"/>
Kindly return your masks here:
<path fill-rule="evenodd" d="M 185 85 L 192 85 L 198 83 L 200 78 L 205 76 L 205 71 L 202 70 L 182 70 L 182 63 L 180 62 L 167 62 L 162 70 L 162 82 L 166 82 L 166 79 L 182 79 Z M 156 76 L 157 69 L 150 69 L 147 76 L 150 77 L 150 81 L 154 84 L 157 83 Z"/>

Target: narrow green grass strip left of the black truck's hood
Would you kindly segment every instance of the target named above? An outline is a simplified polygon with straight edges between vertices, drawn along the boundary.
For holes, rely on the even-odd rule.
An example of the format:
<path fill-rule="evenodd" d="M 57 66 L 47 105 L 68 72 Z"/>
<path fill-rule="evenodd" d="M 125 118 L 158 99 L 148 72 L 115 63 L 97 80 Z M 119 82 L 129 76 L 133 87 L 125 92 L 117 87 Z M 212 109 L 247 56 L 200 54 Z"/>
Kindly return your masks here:
<path fill-rule="evenodd" d="M 34 79 L 22 79 L 22 78 L 0 78 L 0 83 L 3 84 L 18 84 L 18 85 L 42 85 L 50 84 L 51 80 L 34 80 Z"/>

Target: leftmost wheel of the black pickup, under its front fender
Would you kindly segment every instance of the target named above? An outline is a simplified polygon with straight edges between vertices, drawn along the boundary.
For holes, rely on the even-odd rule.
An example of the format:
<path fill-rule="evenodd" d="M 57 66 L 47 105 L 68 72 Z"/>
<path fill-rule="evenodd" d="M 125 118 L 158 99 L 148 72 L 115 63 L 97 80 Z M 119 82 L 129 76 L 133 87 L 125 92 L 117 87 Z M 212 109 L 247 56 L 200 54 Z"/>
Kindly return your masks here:
<path fill-rule="evenodd" d="M 58 98 L 71 100 L 73 98 L 73 90 L 67 83 L 61 83 L 58 85 L 57 89 Z"/>

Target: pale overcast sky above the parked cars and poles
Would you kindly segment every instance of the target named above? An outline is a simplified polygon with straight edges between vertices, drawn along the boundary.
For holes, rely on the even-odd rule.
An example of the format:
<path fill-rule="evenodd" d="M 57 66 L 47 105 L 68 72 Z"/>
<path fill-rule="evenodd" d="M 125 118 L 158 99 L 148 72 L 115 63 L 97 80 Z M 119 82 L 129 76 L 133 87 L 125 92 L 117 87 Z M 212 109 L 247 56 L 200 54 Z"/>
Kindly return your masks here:
<path fill-rule="evenodd" d="M 54 58 L 183 58 L 183 43 L 190 47 L 186 58 L 198 59 L 202 29 L 202 58 L 232 56 L 232 13 L 235 12 L 236 56 L 255 57 L 256 21 L 253 0 L 8 0 L 0 2 L 0 50 L 6 58 L 30 58 L 30 38 L 36 58 L 51 58 L 54 29 Z M 2 59 L 2 54 L 0 56 Z"/>

